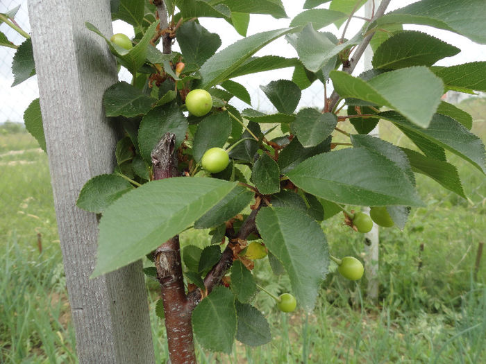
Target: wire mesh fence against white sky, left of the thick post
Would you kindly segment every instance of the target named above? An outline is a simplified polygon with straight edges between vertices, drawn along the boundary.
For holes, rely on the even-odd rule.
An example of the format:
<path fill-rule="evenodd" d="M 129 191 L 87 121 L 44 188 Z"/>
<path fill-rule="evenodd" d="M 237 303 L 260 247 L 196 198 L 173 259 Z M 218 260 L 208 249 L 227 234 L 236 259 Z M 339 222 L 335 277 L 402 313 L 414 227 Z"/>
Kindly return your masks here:
<path fill-rule="evenodd" d="M 28 12 L 26 0 L 2 0 L 0 12 L 7 12 L 19 6 L 15 21 L 27 33 L 31 31 L 28 24 Z M 10 42 L 17 46 L 24 42 L 25 38 L 5 23 L 0 24 L 0 31 L 6 35 Z M 39 97 L 37 89 L 37 77 L 33 76 L 24 83 L 10 87 L 13 83 L 12 59 L 15 49 L 0 46 L 0 123 L 5 121 L 22 122 L 26 107 L 35 98 Z"/>

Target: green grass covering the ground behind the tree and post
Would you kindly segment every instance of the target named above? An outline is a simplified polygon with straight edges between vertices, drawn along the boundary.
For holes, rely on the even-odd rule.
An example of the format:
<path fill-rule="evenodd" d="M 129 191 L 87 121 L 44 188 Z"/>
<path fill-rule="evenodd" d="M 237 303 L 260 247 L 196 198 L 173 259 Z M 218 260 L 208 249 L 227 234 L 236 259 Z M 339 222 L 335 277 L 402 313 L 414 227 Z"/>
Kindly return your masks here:
<path fill-rule="evenodd" d="M 486 110 L 480 99 L 463 106 L 475 119 Z M 485 137 L 485 125 L 476 122 L 475 132 Z M 399 138 L 393 128 L 380 133 Z M 312 314 L 279 313 L 259 293 L 254 303 L 269 319 L 271 343 L 237 343 L 229 355 L 205 352 L 196 343 L 199 362 L 485 363 L 486 264 L 483 257 L 474 279 L 474 262 L 486 231 L 486 182 L 455 156 L 449 160 L 458 166 L 469 200 L 417 176 L 427 207 L 412 210 L 403 232 L 380 230 L 378 306 L 364 299 L 365 278 L 345 281 L 332 263 Z M 77 363 L 47 157 L 26 132 L 0 132 L 0 175 L 0 363 Z M 334 255 L 362 254 L 362 235 L 343 226 L 342 216 L 323 228 Z M 198 231 L 181 241 L 203 246 L 209 240 Z M 265 260 L 255 275 L 272 293 L 289 287 L 287 277 L 271 275 Z M 165 327 L 155 315 L 158 284 L 147 280 L 146 286 L 156 360 L 165 363 Z"/>

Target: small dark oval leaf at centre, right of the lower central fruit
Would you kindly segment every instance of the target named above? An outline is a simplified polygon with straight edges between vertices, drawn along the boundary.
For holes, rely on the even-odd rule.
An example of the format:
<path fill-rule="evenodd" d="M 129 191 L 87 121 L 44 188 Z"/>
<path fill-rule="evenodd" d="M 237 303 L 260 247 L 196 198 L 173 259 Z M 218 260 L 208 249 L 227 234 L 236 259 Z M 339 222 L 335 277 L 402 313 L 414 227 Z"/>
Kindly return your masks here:
<path fill-rule="evenodd" d="M 280 191 L 280 169 L 277 162 L 267 153 L 263 153 L 253 166 L 251 180 L 264 195 Z"/>

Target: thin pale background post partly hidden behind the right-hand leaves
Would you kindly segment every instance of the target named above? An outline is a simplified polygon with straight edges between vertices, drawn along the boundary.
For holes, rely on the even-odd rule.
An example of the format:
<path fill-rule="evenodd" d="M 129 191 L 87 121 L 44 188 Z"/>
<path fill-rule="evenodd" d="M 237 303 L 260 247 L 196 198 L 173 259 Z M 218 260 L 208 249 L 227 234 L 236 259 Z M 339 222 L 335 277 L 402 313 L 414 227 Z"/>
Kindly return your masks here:
<path fill-rule="evenodd" d="M 371 18 L 371 13 L 373 11 L 373 3 L 376 8 L 380 5 L 380 1 L 368 1 L 364 4 L 364 17 Z M 363 54 L 364 69 L 371 69 L 371 59 L 373 58 L 373 52 L 371 51 L 371 46 L 367 46 L 367 49 Z M 378 137 L 378 125 L 374 130 L 369 132 L 369 135 L 373 137 Z M 369 214 L 369 208 L 364 209 L 364 212 Z M 366 277 L 368 280 L 367 287 L 367 299 L 373 304 L 378 303 L 378 243 L 379 238 L 379 227 L 374 224 L 371 232 L 364 234 L 367 244 L 364 245 L 364 267 L 366 270 Z"/>

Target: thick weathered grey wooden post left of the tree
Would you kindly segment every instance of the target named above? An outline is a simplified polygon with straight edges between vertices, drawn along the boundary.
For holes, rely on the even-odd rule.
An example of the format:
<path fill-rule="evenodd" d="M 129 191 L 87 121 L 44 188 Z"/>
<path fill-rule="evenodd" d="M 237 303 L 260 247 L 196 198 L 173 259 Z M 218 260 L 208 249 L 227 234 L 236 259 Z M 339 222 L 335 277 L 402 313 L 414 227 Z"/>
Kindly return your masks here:
<path fill-rule="evenodd" d="M 80 363 L 154 363 L 142 263 L 89 279 L 98 221 L 76 207 L 83 184 L 114 167 L 101 98 L 115 60 L 85 21 L 112 34 L 110 1 L 28 1 L 54 205 Z M 114 249 L 114 251 L 116 251 Z"/>

